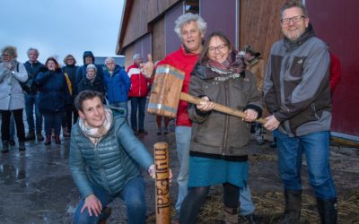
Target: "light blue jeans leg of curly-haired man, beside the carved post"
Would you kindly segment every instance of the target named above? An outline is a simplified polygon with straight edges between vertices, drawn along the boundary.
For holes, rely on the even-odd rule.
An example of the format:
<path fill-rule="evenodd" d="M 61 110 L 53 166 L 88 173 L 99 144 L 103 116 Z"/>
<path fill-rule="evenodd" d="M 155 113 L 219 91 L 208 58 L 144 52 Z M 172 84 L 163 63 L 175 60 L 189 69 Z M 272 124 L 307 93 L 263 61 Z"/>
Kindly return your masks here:
<path fill-rule="evenodd" d="M 192 128 L 189 126 L 176 126 L 176 145 L 177 156 L 180 161 L 180 173 L 177 177 L 179 184 L 179 196 L 176 202 L 176 212 L 180 214 L 180 206 L 188 193 L 188 163 L 189 163 L 189 147 Z"/>

